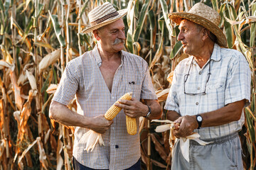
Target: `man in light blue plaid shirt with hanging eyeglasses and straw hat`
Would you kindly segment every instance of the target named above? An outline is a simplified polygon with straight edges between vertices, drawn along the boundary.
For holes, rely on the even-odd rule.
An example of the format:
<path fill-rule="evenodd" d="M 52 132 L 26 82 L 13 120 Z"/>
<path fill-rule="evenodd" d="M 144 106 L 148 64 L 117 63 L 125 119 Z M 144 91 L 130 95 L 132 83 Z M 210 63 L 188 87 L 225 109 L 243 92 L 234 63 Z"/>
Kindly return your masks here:
<path fill-rule="evenodd" d="M 172 169 L 243 169 L 238 131 L 244 123 L 242 109 L 250 104 L 250 68 L 218 28 L 218 12 L 202 3 L 188 13 L 170 13 L 179 25 L 183 52 L 190 55 L 175 71 L 166 101 L 168 119 L 179 126 L 176 137 L 198 132 L 206 146 L 190 141 L 189 162 L 174 146 Z"/>

